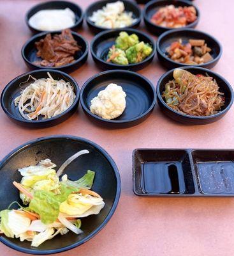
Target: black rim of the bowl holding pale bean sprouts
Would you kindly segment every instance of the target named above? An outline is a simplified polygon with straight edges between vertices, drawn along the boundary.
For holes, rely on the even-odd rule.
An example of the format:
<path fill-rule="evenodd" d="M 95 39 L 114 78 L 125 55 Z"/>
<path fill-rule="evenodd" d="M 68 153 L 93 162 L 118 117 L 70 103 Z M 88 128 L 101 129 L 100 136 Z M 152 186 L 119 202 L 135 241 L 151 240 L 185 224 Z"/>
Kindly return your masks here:
<path fill-rule="evenodd" d="M 66 109 L 64 112 L 62 112 L 61 114 L 54 116 L 52 118 L 48 118 L 48 119 L 44 119 L 44 120 L 26 120 L 22 117 L 18 118 L 17 116 L 13 115 L 10 113 L 10 111 L 8 111 L 8 108 L 6 108 L 5 104 L 4 104 L 4 97 L 6 92 L 9 90 L 9 88 L 12 86 L 13 83 L 17 82 L 18 79 L 24 77 L 24 76 L 29 76 L 35 74 L 35 73 L 40 73 L 40 72 L 54 72 L 57 74 L 61 74 L 62 76 L 64 76 L 66 79 L 70 79 L 72 82 L 72 85 L 75 87 L 75 89 L 77 90 L 76 92 L 76 97 L 75 100 L 73 102 L 73 104 L 71 104 L 71 106 L 69 106 L 68 109 Z M 73 108 L 75 108 L 75 106 L 78 104 L 80 99 L 80 88 L 77 84 L 77 81 L 75 81 L 75 79 L 71 76 L 69 76 L 68 74 L 66 74 L 65 72 L 62 72 L 60 70 L 54 70 L 54 69 L 37 69 L 37 70 L 32 70 L 29 72 L 26 72 L 24 74 L 21 74 L 20 76 L 15 77 L 13 80 L 11 80 L 8 84 L 6 84 L 6 86 L 3 89 L 3 92 L 1 93 L 1 107 L 3 108 L 4 113 L 6 113 L 7 116 L 9 116 L 11 119 L 16 120 L 17 122 L 20 122 L 22 124 L 34 124 L 34 125 L 38 125 L 38 124 L 47 124 L 48 122 L 52 122 L 54 120 L 57 120 L 59 118 L 61 118 L 62 116 L 66 115 L 69 111 L 72 111 Z"/>

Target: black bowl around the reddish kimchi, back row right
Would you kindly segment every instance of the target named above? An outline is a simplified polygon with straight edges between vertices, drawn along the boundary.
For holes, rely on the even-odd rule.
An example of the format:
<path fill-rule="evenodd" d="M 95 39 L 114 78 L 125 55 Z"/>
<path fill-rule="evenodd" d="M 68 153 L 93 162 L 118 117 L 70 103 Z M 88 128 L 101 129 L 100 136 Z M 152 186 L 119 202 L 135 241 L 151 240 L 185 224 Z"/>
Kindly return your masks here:
<path fill-rule="evenodd" d="M 145 5 L 145 8 L 143 10 L 143 19 L 145 22 L 145 26 L 151 33 L 154 33 L 155 35 L 160 35 L 161 33 L 164 33 L 165 31 L 172 30 L 172 28 L 166 28 L 162 26 L 157 26 L 156 24 L 152 23 L 150 19 L 152 18 L 152 15 L 159 10 L 159 8 L 173 4 L 176 7 L 179 6 L 194 6 L 194 4 L 191 3 L 191 1 L 187 0 L 152 0 L 149 3 Z M 183 28 L 194 28 L 200 19 L 200 12 L 196 6 L 194 6 L 196 9 L 196 16 L 197 19 L 187 26 L 184 26 Z M 173 28 L 175 30 L 175 28 Z"/>

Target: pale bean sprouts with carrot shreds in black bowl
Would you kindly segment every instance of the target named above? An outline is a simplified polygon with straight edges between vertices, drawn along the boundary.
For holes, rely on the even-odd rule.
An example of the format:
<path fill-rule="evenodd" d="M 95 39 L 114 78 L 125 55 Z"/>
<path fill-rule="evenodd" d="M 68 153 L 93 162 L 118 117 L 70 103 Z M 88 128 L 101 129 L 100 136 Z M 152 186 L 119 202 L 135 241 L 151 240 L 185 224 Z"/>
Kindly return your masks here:
<path fill-rule="evenodd" d="M 34 82 L 24 88 L 15 98 L 20 115 L 27 120 L 52 118 L 66 111 L 75 100 L 73 86 L 64 80 L 55 80 L 50 73 L 48 78 L 33 79 Z"/>

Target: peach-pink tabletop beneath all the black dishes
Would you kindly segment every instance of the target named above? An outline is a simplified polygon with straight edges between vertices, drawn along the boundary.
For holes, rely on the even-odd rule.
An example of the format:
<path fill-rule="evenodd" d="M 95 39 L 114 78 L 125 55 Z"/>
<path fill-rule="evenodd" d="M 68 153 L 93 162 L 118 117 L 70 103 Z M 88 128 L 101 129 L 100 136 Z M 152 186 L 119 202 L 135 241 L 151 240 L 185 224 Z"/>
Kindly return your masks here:
<path fill-rule="evenodd" d="M 94 0 L 92 0 L 94 1 Z M 77 0 L 83 10 L 91 0 Z M 31 36 L 24 22 L 26 11 L 40 1 L 0 1 L 1 90 L 14 77 L 27 72 L 21 58 L 22 44 Z M 196 0 L 201 29 L 223 44 L 223 56 L 213 68 L 234 84 L 233 0 Z M 143 28 L 143 24 L 142 27 Z M 84 24 L 79 31 L 87 40 L 92 34 Z M 156 39 L 156 38 L 155 38 Z M 79 86 L 100 72 L 91 56 L 73 72 Z M 165 70 L 153 63 L 139 73 L 154 86 Z M 121 200 L 106 227 L 91 241 L 61 256 L 230 256 L 234 253 L 234 200 L 231 198 L 140 198 L 133 195 L 131 155 L 134 148 L 234 148 L 234 108 L 210 125 L 186 127 L 172 122 L 158 106 L 142 124 L 129 129 L 108 130 L 92 124 L 79 109 L 66 122 L 48 129 L 26 129 L 13 124 L 0 109 L 0 158 L 18 145 L 41 136 L 72 134 L 95 141 L 107 150 L 119 167 Z M 1 179 L 1 177 L 0 177 Z M 1 256 L 21 256 L 0 244 Z"/>

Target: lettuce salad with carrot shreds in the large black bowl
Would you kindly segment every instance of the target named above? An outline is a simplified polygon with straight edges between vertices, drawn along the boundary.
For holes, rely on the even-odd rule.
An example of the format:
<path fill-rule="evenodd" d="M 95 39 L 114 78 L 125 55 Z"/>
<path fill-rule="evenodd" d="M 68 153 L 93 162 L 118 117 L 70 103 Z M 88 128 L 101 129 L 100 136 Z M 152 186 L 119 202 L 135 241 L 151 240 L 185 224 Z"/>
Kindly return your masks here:
<path fill-rule="evenodd" d="M 81 234 L 80 218 L 99 214 L 105 205 L 103 198 L 91 191 L 95 172 L 88 170 L 76 181 L 69 180 L 66 174 L 59 177 L 71 161 L 87 153 L 88 150 L 77 152 L 57 172 L 50 159 L 18 169 L 22 179 L 13 185 L 20 191 L 24 206 L 0 212 L 0 233 L 31 241 L 34 247 L 69 230 Z"/>

